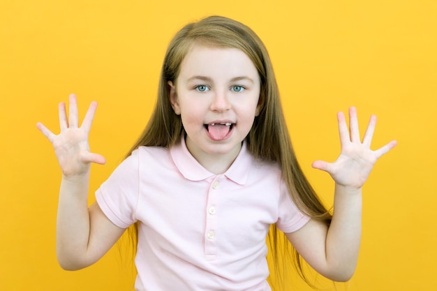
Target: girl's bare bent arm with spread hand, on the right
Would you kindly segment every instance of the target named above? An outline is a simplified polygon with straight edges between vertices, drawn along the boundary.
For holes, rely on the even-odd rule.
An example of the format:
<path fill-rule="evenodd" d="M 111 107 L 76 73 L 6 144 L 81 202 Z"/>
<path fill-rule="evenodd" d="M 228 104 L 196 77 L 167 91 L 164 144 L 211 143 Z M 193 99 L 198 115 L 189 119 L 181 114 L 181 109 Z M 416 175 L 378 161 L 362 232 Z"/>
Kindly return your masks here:
<path fill-rule="evenodd" d="M 341 154 L 334 163 L 315 161 L 313 167 L 328 172 L 335 182 L 334 214 L 329 228 L 311 220 L 297 232 L 286 234 L 302 258 L 323 276 L 348 281 L 357 264 L 361 240 L 362 186 L 380 156 L 397 142 L 370 149 L 376 117 L 372 116 L 362 142 L 357 113 L 349 110 L 350 130 L 344 114 L 338 114 Z"/>

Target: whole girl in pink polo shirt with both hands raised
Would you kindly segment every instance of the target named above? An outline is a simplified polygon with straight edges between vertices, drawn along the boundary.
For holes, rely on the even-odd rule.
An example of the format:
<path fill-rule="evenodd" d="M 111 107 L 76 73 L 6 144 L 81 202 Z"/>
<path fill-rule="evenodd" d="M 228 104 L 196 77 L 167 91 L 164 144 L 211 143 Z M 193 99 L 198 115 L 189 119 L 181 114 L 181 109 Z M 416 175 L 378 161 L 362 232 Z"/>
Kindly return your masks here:
<path fill-rule="evenodd" d="M 225 17 L 186 25 L 165 54 L 158 103 L 129 156 L 87 207 L 96 103 L 82 125 L 74 95 L 59 105 L 61 133 L 43 124 L 62 170 L 57 256 L 64 269 L 101 258 L 138 226 L 135 290 L 270 290 L 270 225 L 323 276 L 347 281 L 360 246 L 362 186 L 390 142 L 362 142 L 355 108 L 338 114 L 341 154 L 313 167 L 335 181 L 334 214 L 320 203 L 293 152 L 267 50 Z"/>

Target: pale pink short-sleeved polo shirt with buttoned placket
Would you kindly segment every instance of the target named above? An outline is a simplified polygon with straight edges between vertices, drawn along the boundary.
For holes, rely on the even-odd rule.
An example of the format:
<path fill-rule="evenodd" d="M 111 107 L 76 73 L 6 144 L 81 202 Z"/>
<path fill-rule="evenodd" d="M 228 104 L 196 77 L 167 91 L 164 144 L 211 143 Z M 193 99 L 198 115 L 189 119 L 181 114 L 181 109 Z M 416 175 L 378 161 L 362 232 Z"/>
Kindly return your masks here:
<path fill-rule="evenodd" d="M 246 146 L 224 174 L 205 170 L 184 140 L 140 147 L 96 191 L 115 225 L 140 221 L 135 290 L 267 291 L 272 223 L 294 232 L 309 221 L 288 197 L 281 170 Z"/>

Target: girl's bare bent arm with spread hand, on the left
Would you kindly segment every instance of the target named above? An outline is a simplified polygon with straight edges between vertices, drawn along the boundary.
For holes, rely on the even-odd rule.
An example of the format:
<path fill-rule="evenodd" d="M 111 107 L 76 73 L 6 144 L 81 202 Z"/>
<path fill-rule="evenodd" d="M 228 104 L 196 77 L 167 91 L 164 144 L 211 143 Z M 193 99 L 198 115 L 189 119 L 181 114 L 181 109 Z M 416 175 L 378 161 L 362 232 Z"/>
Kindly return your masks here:
<path fill-rule="evenodd" d="M 52 143 L 62 171 L 56 246 L 59 264 L 68 270 L 96 262 L 124 232 L 112 224 L 96 203 L 89 209 L 87 205 L 91 163 L 105 163 L 103 156 L 89 151 L 88 134 L 96 107 L 95 102 L 91 103 L 79 127 L 76 98 L 71 95 L 68 120 L 65 103 L 59 104 L 59 135 L 37 124 Z"/>

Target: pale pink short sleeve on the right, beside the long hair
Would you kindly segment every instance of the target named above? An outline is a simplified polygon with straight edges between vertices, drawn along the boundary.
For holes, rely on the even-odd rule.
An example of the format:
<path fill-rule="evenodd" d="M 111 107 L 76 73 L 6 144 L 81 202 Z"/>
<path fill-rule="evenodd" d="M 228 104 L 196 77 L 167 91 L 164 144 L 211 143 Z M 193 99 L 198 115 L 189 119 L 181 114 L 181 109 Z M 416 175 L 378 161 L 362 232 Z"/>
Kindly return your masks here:
<path fill-rule="evenodd" d="M 290 233 L 299 230 L 310 220 L 302 214 L 292 202 L 285 181 L 281 180 L 281 197 L 279 199 L 279 218 L 276 227 L 282 232 Z"/>

